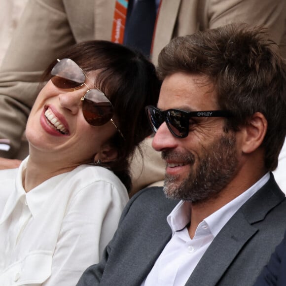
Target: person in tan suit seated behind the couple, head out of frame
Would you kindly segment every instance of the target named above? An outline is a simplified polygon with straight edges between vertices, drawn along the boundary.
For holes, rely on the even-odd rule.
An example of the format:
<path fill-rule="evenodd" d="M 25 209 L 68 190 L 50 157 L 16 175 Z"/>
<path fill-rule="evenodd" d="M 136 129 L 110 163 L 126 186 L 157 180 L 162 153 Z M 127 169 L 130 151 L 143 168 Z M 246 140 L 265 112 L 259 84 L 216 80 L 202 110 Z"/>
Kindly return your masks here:
<path fill-rule="evenodd" d="M 21 137 L 42 71 L 75 42 L 110 40 L 118 2 L 125 5 L 128 2 L 130 7 L 133 1 L 83 0 L 79 4 L 77 0 L 30 0 L 27 3 L 0 69 L 0 157 L 27 155 L 27 150 L 20 149 Z M 285 0 L 161 0 L 152 61 L 157 64 L 159 52 L 172 37 L 216 28 L 231 21 L 266 26 L 286 56 Z M 155 152 L 147 157 L 147 161 L 153 160 L 152 164 L 145 164 L 149 170 L 143 171 L 145 176 L 140 176 L 143 167 L 132 168 L 135 189 L 164 178 L 159 158 L 160 154 Z M 141 163 L 141 158 L 138 161 Z M 18 165 L 19 161 L 0 158 L 0 168 Z"/>

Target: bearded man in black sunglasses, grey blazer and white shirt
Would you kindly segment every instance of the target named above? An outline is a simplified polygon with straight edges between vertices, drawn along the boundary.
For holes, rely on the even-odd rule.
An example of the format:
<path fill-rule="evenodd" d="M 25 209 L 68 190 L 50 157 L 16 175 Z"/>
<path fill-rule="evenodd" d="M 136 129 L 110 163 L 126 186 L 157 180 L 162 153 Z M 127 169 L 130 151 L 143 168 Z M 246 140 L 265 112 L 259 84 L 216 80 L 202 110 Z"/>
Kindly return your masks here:
<path fill-rule="evenodd" d="M 130 200 L 77 286 L 252 286 L 286 225 L 271 173 L 286 134 L 286 66 L 266 37 L 233 24 L 162 50 L 158 105 L 146 110 L 166 196 L 153 187 Z"/>

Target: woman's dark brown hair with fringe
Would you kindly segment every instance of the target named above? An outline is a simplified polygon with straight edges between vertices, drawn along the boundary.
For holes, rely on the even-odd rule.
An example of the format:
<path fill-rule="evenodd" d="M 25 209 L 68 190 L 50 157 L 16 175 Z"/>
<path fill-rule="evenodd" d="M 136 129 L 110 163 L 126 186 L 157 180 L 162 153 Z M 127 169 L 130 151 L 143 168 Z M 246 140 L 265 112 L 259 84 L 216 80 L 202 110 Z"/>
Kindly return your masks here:
<path fill-rule="evenodd" d="M 72 59 L 84 72 L 99 70 L 95 86 L 105 93 L 112 103 L 118 132 L 111 139 L 118 157 L 105 167 L 121 179 L 129 191 L 131 178 L 129 161 L 139 143 L 151 134 L 144 107 L 156 105 L 161 82 L 155 67 L 140 52 L 123 45 L 104 40 L 93 40 L 75 44 L 59 59 Z M 56 60 L 44 72 L 43 80 L 50 78 Z"/>

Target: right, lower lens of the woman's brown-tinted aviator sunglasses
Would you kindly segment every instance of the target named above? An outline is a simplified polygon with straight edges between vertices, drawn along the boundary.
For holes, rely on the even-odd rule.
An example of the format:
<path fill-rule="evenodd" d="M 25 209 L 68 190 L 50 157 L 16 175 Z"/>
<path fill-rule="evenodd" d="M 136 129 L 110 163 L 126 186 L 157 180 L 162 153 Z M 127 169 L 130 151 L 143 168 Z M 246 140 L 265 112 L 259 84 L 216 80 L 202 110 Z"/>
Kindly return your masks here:
<path fill-rule="evenodd" d="M 97 89 L 90 89 L 82 103 L 85 120 L 93 126 L 106 124 L 113 116 L 114 109 L 107 97 Z"/>

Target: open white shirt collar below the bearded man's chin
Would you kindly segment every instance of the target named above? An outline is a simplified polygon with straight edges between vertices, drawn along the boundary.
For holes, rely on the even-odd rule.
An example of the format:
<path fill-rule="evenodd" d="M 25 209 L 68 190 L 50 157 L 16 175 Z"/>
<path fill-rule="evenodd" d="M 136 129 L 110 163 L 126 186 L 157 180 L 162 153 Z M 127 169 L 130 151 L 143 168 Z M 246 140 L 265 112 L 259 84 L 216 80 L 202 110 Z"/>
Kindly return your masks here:
<path fill-rule="evenodd" d="M 249 189 L 240 194 L 238 197 L 224 205 L 222 208 L 206 217 L 200 224 L 208 224 L 214 237 L 219 233 L 226 222 L 235 214 L 238 209 L 254 195 L 268 180 L 270 179 L 269 172 L 261 179 L 254 183 Z M 173 235 L 176 231 L 184 228 L 191 217 L 191 203 L 180 201 L 173 211 L 167 216 L 167 222 L 170 225 Z"/>

